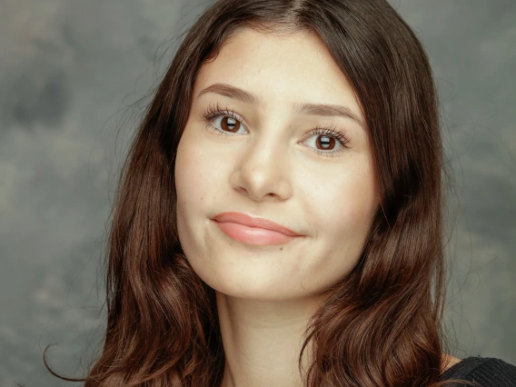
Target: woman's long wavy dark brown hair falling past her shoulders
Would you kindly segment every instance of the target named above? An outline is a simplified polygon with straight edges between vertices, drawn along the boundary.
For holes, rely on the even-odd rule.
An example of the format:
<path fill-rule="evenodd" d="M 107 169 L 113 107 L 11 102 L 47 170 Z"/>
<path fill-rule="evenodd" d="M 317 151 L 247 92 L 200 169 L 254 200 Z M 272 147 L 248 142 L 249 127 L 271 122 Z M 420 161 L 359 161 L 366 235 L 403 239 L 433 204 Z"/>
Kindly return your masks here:
<path fill-rule="evenodd" d="M 53 372 L 44 353 L 45 366 L 85 387 L 220 386 L 214 290 L 193 272 L 178 238 L 174 164 L 196 74 L 243 27 L 320 36 L 361 105 L 380 190 L 358 262 L 306 329 L 305 385 L 458 382 L 439 382 L 449 345 L 443 210 L 452 177 L 436 87 L 422 44 L 385 0 L 220 0 L 205 10 L 147 106 L 118 181 L 102 351 L 82 379 Z M 313 362 L 302 370 L 311 341 Z"/>

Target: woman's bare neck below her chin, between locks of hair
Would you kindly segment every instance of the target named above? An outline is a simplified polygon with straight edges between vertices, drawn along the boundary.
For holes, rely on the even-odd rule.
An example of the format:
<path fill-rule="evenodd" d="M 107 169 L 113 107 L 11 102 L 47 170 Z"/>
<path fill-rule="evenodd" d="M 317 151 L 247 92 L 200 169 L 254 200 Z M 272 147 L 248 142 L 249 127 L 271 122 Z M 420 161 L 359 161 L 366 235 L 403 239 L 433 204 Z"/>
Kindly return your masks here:
<path fill-rule="evenodd" d="M 319 298 L 269 302 L 216 292 L 225 365 L 221 387 L 301 387 L 298 367 L 303 333 Z M 312 360 L 303 352 L 303 370 Z"/>

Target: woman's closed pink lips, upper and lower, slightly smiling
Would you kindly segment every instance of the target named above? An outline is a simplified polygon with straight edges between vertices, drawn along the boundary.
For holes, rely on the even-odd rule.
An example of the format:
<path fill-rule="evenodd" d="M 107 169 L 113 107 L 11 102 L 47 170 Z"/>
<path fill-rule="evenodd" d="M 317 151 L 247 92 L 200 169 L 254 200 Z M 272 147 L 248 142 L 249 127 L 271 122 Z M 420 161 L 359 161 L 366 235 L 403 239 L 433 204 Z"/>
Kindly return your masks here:
<path fill-rule="evenodd" d="M 281 224 L 245 213 L 219 213 L 213 221 L 224 233 L 243 243 L 283 244 L 303 236 Z"/>

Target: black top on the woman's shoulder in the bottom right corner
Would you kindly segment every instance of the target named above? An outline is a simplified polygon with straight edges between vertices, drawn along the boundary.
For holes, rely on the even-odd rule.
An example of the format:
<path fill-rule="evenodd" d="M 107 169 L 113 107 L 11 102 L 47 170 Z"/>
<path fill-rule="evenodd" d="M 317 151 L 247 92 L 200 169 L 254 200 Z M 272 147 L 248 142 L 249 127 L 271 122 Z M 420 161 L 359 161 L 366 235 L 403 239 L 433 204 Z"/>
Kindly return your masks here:
<path fill-rule="evenodd" d="M 477 382 L 482 387 L 516 387 L 516 367 L 494 357 L 470 356 L 442 372 L 439 381 L 449 379 Z"/>

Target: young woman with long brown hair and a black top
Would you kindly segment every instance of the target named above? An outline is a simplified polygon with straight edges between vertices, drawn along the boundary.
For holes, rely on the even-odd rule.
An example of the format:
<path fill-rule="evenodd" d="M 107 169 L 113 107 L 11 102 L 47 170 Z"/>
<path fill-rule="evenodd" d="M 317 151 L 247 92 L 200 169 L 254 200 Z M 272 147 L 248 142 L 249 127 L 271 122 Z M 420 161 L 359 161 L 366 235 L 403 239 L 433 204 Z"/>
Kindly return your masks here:
<path fill-rule="evenodd" d="M 445 165 L 427 55 L 386 1 L 216 2 L 124 165 L 103 351 L 63 379 L 516 386 L 446 353 Z"/>

